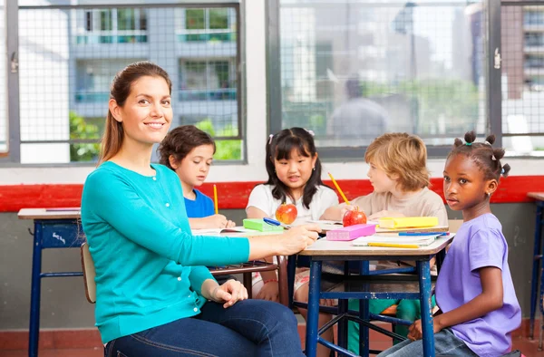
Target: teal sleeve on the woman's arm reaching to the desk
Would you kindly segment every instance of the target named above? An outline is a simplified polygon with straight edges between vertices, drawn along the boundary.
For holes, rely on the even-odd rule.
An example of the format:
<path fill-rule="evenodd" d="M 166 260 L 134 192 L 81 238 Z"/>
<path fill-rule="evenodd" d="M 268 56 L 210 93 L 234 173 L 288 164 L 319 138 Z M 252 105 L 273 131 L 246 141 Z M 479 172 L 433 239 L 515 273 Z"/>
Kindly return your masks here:
<path fill-rule="evenodd" d="M 168 183 L 180 185 L 179 180 Z M 141 198 L 133 182 L 109 169 L 97 169 L 87 178 L 83 207 L 86 212 L 82 215 L 87 220 L 103 220 L 127 239 L 180 265 L 228 265 L 248 261 L 248 238 L 192 236 L 189 222 L 185 229 L 174 225 Z M 203 277 L 199 275 L 199 279 Z"/>

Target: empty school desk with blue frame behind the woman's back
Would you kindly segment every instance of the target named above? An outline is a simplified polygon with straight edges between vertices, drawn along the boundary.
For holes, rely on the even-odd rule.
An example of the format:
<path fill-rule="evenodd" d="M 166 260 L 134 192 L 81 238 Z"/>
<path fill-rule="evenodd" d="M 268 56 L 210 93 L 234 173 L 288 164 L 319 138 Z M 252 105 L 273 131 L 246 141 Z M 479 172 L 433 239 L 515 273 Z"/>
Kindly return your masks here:
<path fill-rule="evenodd" d="M 43 277 L 81 276 L 82 272 L 42 273 L 42 250 L 45 248 L 79 248 L 85 241 L 79 224 L 79 208 L 23 208 L 19 219 L 34 220 L 32 285 L 30 289 L 30 327 L 28 355 L 38 355 L 40 332 L 40 293 Z"/>

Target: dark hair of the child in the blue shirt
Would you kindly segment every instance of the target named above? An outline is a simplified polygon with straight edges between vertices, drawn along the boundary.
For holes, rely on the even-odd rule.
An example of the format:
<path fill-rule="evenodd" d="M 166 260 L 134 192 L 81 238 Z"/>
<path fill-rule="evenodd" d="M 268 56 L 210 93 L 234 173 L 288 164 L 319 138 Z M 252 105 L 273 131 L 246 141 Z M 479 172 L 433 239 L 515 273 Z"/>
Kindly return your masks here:
<path fill-rule="evenodd" d="M 194 125 L 181 125 L 170 130 L 164 140 L 160 142 L 159 149 L 157 149 L 160 157 L 159 162 L 172 169 L 170 155 L 173 155 L 177 162 L 181 162 L 182 159 L 189 155 L 190 150 L 201 145 L 213 146 L 213 153 L 215 154 L 215 141 L 207 132 L 199 130 Z"/>

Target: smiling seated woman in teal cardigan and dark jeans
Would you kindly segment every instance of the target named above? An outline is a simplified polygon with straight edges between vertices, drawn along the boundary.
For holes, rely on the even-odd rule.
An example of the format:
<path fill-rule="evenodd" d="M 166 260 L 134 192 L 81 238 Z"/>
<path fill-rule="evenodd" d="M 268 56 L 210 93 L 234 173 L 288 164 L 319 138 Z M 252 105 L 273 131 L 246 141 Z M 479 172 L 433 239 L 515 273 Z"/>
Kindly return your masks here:
<path fill-rule="evenodd" d="M 218 285 L 204 265 L 291 255 L 318 227 L 279 236 L 191 236 L 180 180 L 151 164 L 170 126 L 171 82 L 159 66 L 133 63 L 112 83 L 100 166 L 85 181 L 83 230 L 96 269 L 96 324 L 108 356 L 302 356 L 285 306 L 246 300 L 234 280 Z"/>

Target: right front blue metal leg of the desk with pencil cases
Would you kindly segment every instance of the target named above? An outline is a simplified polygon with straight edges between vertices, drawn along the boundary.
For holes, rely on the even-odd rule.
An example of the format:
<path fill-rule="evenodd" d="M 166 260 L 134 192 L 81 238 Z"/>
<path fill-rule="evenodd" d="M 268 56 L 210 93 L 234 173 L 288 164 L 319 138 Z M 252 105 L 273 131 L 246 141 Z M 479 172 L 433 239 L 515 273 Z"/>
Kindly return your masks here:
<path fill-rule="evenodd" d="M 432 327 L 431 268 L 428 260 L 417 262 L 422 304 L 423 356 L 434 357 L 434 332 Z"/>

